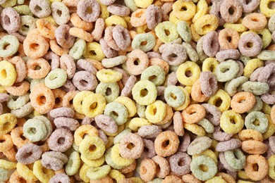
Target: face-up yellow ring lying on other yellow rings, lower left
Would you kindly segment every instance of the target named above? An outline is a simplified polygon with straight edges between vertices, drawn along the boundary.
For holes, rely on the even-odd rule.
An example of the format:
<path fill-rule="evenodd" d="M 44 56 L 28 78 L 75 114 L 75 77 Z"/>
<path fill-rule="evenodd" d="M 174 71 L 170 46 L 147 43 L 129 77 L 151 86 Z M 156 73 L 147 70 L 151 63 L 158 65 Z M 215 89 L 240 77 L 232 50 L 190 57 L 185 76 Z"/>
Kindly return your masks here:
<path fill-rule="evenodd" d="M 96 160 L 104 154 L 105 144 L 97 136 L 87 136 L 80 142 L 79 151 L 86 158 Z"/>

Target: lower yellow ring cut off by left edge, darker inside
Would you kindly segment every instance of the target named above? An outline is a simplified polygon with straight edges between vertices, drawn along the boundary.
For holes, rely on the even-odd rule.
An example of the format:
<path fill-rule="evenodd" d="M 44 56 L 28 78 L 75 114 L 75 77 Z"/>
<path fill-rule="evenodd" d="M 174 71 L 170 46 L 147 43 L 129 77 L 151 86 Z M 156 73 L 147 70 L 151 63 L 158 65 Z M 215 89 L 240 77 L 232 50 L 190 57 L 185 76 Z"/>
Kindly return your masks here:
<path fill-rule="evenodd" d="M 0 134 L 11 132 L 16 126 L 17 118 L 11 113 L 0 115 Z"/>

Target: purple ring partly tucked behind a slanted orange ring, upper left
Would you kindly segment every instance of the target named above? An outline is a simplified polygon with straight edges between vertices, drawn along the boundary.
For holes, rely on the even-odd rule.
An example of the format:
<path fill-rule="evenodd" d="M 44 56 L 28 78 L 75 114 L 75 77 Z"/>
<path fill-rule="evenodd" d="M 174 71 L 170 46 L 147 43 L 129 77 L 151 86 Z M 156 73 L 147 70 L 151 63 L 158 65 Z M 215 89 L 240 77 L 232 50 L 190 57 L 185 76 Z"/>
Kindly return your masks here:
<path fill-rule="evenodd" d="M 70 28 L 69 25 L 60 25 L 54 32 L 56 42 L 64 49 L 71 49 L 75 43 L 75 37 L 69 34 Z"/>

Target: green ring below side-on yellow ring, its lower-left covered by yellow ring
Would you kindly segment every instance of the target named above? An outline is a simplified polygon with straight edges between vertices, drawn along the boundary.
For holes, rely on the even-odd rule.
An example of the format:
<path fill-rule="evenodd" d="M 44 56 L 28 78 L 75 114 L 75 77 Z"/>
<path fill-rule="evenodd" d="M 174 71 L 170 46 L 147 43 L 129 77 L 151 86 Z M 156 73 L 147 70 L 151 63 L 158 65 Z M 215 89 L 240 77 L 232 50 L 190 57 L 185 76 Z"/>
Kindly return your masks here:
<path fill-rule="evenodd" d="M 102 94 L 107 103 L 114 101 L 118 98 L 119 95 L 119 87 L 116 82 L 100 82 L 97 85 L 97 89 L 95 89 L 97 94 Z"/>

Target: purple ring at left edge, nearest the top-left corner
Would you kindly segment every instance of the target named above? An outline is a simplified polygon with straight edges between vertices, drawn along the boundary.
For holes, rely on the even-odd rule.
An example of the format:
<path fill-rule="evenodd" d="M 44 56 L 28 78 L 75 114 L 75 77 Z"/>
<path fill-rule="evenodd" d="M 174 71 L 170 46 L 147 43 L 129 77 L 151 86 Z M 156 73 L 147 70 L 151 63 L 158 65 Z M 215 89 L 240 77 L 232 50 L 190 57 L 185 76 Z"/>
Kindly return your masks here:
<path fill-rule="evenodd" d="M 1 12 L 1 25 L 7 32 L 16 32 L 20 28 L 20 15 L 13 8 L 4 8 Z"/>

